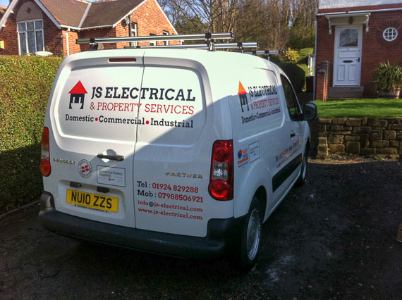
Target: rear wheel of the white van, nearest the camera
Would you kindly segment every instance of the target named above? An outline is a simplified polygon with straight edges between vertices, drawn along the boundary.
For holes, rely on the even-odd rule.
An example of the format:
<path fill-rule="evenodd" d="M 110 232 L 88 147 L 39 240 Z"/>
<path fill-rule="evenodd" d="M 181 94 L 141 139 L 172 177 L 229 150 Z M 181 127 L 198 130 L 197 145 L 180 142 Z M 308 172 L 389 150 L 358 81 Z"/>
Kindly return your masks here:
<path fill-rule="evenodd" d="M 243 224 L 240 241 L 240 270 L 250 271 L 257 263 L 260 253 L 261 232 L 262 232 L 262 212 L 260 201 L 254 197 L 251 201 L 250 209 Z M 238 262 L 239 263 L 239 262 Z"/>

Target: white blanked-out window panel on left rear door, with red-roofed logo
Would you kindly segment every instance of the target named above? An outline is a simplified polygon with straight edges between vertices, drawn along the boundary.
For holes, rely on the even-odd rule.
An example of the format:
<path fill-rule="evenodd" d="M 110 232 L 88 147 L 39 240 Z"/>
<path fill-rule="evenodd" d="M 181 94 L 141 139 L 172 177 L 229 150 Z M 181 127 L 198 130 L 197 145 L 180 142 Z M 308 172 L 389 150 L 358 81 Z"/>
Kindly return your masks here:
<path fill-rule="evenodd" d="M 135 140 L 142 66 L 111 66 L 73 70 L 56 102 L 61 135 L 82 139 Z"/>

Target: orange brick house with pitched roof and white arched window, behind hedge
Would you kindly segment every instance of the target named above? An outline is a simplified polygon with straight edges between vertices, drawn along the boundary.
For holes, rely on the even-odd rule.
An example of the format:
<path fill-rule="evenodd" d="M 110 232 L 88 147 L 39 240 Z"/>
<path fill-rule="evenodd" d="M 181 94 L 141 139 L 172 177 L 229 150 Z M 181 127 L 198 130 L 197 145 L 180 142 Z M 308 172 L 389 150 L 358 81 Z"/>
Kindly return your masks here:
<path fill-rule="evenodd" d="M 177 35 L 156 0 L 10 0 L 2 16 L 1 7 L 0 55 L 50 51 L 68 56 L 88 49 L 75 44 L 78 38 Z M 104 44 L 104 49 L 129 45 Z"/>

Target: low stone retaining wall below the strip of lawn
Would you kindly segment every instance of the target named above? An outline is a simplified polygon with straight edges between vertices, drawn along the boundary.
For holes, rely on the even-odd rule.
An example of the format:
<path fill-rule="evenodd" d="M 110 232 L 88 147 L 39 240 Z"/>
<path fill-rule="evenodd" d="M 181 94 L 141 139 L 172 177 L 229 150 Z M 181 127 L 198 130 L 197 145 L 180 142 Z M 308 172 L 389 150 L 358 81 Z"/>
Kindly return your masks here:
<path fill-rule="evenodd" d="M 317 156 L 355 154 L 391 156 L 402 154 L 401 118 L 318 118 L 312 124 L 317 136 Z"/>

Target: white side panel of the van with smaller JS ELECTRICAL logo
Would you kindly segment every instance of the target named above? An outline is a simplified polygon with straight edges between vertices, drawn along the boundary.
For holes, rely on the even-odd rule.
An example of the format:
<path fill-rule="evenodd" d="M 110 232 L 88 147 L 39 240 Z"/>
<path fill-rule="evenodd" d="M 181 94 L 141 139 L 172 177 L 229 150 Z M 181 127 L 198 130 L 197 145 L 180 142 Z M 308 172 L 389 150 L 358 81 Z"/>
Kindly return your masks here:
<path fill-rule="evenodd" d="M 260 185 L 267 192 L 267 209 L 274 205 L 272 177 L 289 138 L 281 136 L 284 103 L 275 73 L 250 68 L 245 74 L 233 82 L 233 96 L 229 97 L 235 141 L 235 217 L 248 212 Z"/>

